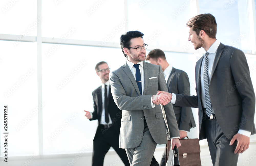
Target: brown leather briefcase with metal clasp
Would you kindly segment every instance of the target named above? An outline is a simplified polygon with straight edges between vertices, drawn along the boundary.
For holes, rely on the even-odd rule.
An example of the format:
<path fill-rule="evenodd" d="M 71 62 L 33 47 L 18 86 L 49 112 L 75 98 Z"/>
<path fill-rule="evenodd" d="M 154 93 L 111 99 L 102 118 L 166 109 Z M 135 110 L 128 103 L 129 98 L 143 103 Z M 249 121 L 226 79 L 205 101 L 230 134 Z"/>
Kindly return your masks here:
<path fill-rule="evenodd" d="M 201 166 L 199 139 L 180 139 L 178 148 L 180 166 Z M 171 141 L 167 143 L 167 151 L 170 151 Z M 168 157 L 168 155 L 166 155 Z"/>

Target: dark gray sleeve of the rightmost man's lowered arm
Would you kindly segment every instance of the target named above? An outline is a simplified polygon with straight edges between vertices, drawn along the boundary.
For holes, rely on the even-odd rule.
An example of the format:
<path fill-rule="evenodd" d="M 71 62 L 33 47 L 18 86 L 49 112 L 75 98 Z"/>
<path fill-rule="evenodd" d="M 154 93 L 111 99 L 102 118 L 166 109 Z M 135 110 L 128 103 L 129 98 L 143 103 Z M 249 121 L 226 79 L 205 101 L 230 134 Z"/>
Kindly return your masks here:
<path fill-rule="evenodd" d="M 242 99 L 242 115 L 239 129 L 252 131 L 255 114 L 255 93 L 253 90 L 252 80 L 250 77 L 249 66 L 244 53 L 236 49 L 230 60 L 231 71 L 237 87 L 238 93 Z M 232 95 L 232 93 L 230 94 Z M 246 123 L 242 123 L 242 120 Z"/>

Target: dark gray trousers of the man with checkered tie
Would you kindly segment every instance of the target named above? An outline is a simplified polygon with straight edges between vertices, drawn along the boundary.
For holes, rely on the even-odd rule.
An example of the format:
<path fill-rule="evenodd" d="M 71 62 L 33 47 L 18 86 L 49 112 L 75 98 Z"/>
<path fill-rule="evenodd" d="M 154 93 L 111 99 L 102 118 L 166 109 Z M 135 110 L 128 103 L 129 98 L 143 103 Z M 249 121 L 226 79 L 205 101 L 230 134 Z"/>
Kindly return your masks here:
<path fill-rule="evenodd" d="M 234 154 L 237 141 L 232 146 L 222 132 L 217 119 L 204 120 L 207 142 L 211 154 L 212 164 L 214 166 L 236 166 L 238 154 Z"/>

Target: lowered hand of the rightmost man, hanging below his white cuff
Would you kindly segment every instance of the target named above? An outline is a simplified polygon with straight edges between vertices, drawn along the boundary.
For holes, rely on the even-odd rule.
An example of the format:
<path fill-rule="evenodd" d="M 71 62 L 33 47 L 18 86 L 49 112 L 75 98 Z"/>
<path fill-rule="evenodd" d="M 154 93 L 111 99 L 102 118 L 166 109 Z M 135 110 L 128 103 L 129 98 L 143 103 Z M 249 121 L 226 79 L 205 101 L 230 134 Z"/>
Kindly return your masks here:
<path fill-rule="evenodd" d="M 234 151 L 235 154 L 243 153 L 244 151 L 246 151 L 249 148 L 250 137 L 247 137 L 243 134 L 237 133 L 236 135 L 233 136 L 229 145 L 233 145 L 235 140 L 237 140 L 237 148 Z"/>

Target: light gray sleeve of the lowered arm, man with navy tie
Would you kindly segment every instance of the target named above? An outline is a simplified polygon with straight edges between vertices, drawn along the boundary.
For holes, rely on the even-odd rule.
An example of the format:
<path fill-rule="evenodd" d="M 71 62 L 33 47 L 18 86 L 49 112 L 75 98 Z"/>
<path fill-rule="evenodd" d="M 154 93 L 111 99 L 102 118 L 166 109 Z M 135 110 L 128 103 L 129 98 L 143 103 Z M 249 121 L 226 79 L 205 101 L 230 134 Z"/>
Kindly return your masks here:
<path fill-rule="evenodd" d="M 158 81 L 158 90 L 168 92 L 167 85 L 164 78 L 164 73 L 159 66 L 159 81 Z M 174 114 L 173 105 L 168 103 L 167 105 L 163 106 L 162 109 L 165 124 L 169 131 L 169 137 L 179 137 L 179 128 L 177 124 L 177 120 Z"/>

